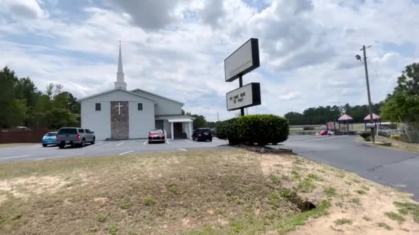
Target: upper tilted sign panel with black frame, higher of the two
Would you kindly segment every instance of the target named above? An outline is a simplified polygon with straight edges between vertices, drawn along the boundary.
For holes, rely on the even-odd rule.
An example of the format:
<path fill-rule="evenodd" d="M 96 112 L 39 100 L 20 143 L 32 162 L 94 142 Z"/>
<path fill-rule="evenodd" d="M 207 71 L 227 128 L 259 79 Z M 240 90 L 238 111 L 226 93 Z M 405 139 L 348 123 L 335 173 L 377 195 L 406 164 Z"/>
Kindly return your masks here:
<path fill-rule="evenodd" d="M 225 81 L 232 82 L 257 67 L 259 67 L 258 39 L 250 38 L 224 60 Z"/>

